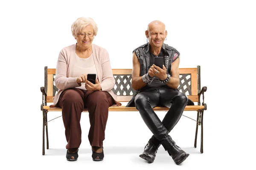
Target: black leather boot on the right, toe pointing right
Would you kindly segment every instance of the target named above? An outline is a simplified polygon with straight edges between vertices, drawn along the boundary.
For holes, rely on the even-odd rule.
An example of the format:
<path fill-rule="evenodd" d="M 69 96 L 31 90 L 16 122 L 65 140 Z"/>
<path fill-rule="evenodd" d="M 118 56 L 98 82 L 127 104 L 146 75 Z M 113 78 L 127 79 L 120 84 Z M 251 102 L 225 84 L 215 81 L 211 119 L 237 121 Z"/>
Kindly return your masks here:
<path fill-rule="evenodd" d="M 181 164 L 189 156 L 184 150 L 178 147 L 176 144 L 172 148 L 167 150 L 169 155 L 172 156 L 172 159 L 176 164 Z"/>

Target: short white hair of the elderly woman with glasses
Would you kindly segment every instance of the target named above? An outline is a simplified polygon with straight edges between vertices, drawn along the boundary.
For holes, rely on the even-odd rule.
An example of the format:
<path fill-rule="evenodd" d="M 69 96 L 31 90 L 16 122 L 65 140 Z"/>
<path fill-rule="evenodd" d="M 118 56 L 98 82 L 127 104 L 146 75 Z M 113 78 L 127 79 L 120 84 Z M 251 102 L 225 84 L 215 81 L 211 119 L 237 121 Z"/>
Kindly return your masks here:
<path fill-rule="evenodd" d="M 80 17 L 71 26 L 73 37 L 77 37 L 77 34 L 81 33 L 82 29 L 88 25 L 93 26 L 94 36 L 97 35 L 98 27 L 94 20 L 90 17 Z"/>

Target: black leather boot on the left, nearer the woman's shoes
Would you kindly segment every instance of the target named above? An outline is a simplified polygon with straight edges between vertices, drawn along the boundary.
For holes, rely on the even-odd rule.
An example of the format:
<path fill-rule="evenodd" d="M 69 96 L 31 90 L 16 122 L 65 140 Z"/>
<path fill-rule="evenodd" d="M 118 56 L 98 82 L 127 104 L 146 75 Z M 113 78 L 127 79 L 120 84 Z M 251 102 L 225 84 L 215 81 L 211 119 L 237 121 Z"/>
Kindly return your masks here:
<path fill-rule="evenodd" d="M 148 141 L 148 144 L 145 146 L 144 151 L 142 154 L 140 154 L 140 157 L 146 161 L 148 161 L 148 163 L 152 163 L 154 162 L 154 159 L 156 157 L 156 153 L 158 150 L 159 145 L 155 145 L 154 143 Z"/>

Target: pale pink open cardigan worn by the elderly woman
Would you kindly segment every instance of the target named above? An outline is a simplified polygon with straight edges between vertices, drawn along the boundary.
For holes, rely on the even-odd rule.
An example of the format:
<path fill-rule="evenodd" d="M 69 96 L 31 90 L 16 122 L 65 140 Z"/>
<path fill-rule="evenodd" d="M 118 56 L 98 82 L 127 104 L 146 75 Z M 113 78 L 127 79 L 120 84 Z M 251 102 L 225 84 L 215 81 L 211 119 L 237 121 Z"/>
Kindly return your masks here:
<path fill-rule="evenodd" d="M 113 77 L 108 51 L 98 45 L 92 44 L 93 60 L 96 66 L 96 71 L 99 79 L 99 83 L 102 87 L 102 91 L 107 91 L 116 102 L 116 105 L 121 103 L 116 101 L 116 95 L 111 90 L 115 85 L 115 79 Z M 73 69 L 76 69 L 74 65 L 74 58 L 76 57 L 76 44 L 65 47 L 61 50 L 57 67 L 55 85 L 59 89 L 55 97 L 53 98 L 53 105 L 55 107 L 58 102 L 61 92 L 67 88 L 79 87 L 76 82 L 77 77 L 73 77 Z"/>

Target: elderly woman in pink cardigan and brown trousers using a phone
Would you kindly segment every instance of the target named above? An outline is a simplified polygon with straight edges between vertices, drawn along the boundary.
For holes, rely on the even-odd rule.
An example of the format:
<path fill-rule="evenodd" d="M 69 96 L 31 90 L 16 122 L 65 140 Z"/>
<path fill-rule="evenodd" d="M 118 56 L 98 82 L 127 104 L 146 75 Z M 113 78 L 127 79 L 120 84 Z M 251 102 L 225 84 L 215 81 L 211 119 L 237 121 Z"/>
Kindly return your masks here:
<path fill-rule="evenodd" d="M 62 108 L 62 118 L 67 139 L 67 160 L 76 161 L 81 144 L 81 112 L 88 109 L 90 130 L 88 138 L 94 161 L 102 161 L 103 140 L 108 120 L 108 107 L 121 105 L 111 89 L 115 85 L 108 51 L 92 44 L 97 35 L 97 25 L 92 18 L 80 17 L 71 26 L 76 44 L 61 50 L 55 85 L 59 89 L 51 107 Z M 87 74 L 96 74 L 95 84 Z"/>

